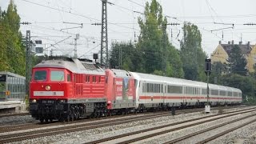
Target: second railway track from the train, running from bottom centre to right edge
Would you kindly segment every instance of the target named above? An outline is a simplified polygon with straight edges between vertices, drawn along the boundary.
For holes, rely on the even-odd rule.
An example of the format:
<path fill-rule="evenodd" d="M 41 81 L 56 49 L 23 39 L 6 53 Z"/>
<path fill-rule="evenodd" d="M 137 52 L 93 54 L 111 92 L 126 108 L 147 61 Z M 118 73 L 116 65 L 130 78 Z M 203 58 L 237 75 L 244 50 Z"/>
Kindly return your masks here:
<path fill-rule="evenodd" d="M 119 134 L 117 136 L 113 136 L 113 137 L 109 137 L 109 138 L 102 138 L 93 142 L 88 142 L 88 143 L 101 143 L 101 142 L 106 142 L 106 143 L 131 143 L 131 142 L 138 142 L 138 141 L 142 141 L 143 139 L 146 138 L 152 138 L 161 134 L 166 134 L 166 133 L 170 133 L 176 130 L 182 130 L 191 126 L 197 126 L 200 125 L 202 123 L 206 123 L 206 122 L 212 122 L 221 118 L 228 118 L 234 115 L 238 115 L 238 114 L 245 114 L 245 113 L 250 113 L 250 112 L 254 112 L 255 109 L 253 110 L 247 110 L 246 112 L 244 110 L 239 110 L 240 112 L 232 114 L 234 112 L 229 112 L 229 113 L 225 113 L 228 115 L 224 115 L 224 116 L 220 116 L 218 118 L 211 118 L 211 119 L 206 119 L 206 118 L 210 118 L 213 116 L 206 116 L 206 117 L 202 117 L 202 118 L 194 118 L 194 119 L 190 119 L 190 120 L 186 120 L 183 122 L 175 122 L 175 123 L 171 123 L 171 124 L 167 124 L 167 125 L 163 125 L 163 126 L 157 126 L 157 127 L 153 127 L 153 128 L 149 128 L 146 130 L 138 130 L 138 131 L 134 131 L 134 132 L 130 132 L 130 133 L 126 133 L 126 134 Z M 223 114 L 218 114 L 218 115 L 223 115 Z M 255 116 L 256 114 L 254 114 L 253 116 Z M 216 116 L 216 115 L 214 115 Z M 251 116 L 250 116 L 251 117 Z M 245 118 L 249 118 L 249 117 L 245 117 Z M 194 121 L 198 121 L 198 120 L 202 120 L 202 119 L 206 119 L 204 121 L 200 121 L 200 122 L 194 122 Z M 187 123 L 187 122 L 194 122 L 192 124 L 186 124 L 185 126 L 178 126 L 175 128 L 170 128 L 168 130 L 166 130 L 166 127 L 168 126 L 176 126 L 176 125 L 180 125 L 182 123 Z M 149 133 L 149 134 L 143 134 L 143 133 Z M 141 134 L 141 136 L 136 136 L 136 134 Z M 134 138 L 130 138 L 134 135 Z M 128 138 L 128 140 L 126 140 L 126 138 Z M 178 142 L 178 141 L 177 141 Z M 167 143 L 174 143 L 174 142 L 167 142 Z M 203 143 L 203 142 L 202 142 Z"/>

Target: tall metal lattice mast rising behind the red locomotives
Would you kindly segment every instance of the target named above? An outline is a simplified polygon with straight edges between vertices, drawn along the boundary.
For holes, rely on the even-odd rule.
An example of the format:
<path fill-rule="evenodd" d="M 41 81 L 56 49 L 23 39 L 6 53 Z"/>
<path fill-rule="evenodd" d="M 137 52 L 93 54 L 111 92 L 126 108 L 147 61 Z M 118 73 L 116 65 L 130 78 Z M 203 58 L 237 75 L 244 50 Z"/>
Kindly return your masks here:
<path fill-rule="evenodd" d="M 101 65 L 109 66 L 108 41 L 107 41 L 107 0 L 102 0 L 102 41 L 101 41 Z"/>

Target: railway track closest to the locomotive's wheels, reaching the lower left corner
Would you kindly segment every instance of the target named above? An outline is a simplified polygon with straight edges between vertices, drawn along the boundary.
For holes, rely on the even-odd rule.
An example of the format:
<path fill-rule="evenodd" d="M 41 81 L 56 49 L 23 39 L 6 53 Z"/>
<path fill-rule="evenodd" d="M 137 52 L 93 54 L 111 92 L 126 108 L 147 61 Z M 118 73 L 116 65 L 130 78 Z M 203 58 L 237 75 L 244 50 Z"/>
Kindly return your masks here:
<path fill-rule="evenodd" d="M 246 109 L 246 110 L 253 110 L 253 109 L 254 108 Z M 184 111 L 185 110 L 182 110 L 180 113 L 184 113 Z M 239 111 L 242 111 L 242 110 L 239 110 Z M 191 110 L 187 110 L 187 112 L 190 113 Z M 229 112 L 229 113 L 232 113 L 232 112 Z M 229 114 L 229 113 L 226 113 L 226 114 Z M 128 122 L 137 122 L 137 121 L 145 120 L 149 118 L 158 118 L 160 116 L 170 116 L 170 112 L 164 112 L 162 114 L 146 114 L 146 115 L 140 115 L 139 117 L 134 117 L 134 118 L 119 118 L 119 119 L 111 120 L 111 122 L 103 121 L 103 122 L 90 122 L 90 123 L 81 123 L 81 124 L 78 123 L 76 125 L 65 125 L 64 123 L 64 126 L 59 126 L 59 127 L 46 126 L 45 129 L 40 129 L 40 130 L 36 130 L 36 129 L 27 130 L 27 131 L 22 130 L 22 132 L 17 131 L 14 134 L 0 135 L 0 143 L 17 142 L 25 139 L 45 137 L 45 136 L 50 136 L 54 134 L 64 134 L 64 133 L 70 133 L 70 132 L 80 131 L 80 130 L 89 130 L 89 129 L 95 129 L 95 128 L 105 127 L 105 126 L 114 126 L 114 125 L 119 125 L 119 124 L 128 123 Z M 206 116 L 206 117 L 210 117 L 210 116 Z M 206 118 L 206 117 L 203 117 L 203 118 Z"/>

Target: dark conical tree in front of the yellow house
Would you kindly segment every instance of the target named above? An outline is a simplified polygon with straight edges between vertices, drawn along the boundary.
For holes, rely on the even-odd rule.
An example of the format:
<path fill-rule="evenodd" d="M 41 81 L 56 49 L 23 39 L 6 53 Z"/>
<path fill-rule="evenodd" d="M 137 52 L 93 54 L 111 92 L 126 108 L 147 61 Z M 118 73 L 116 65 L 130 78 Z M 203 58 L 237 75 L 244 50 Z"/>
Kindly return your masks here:
<path fill-rule="evenodd" d="M 230 72 L 233 74 L 246 75 L 246 58 L 242 55 L 242 51 L 238 45 L 234 45 L 231 49 L 229 58 L 227 60 L 230 66 Z"/>

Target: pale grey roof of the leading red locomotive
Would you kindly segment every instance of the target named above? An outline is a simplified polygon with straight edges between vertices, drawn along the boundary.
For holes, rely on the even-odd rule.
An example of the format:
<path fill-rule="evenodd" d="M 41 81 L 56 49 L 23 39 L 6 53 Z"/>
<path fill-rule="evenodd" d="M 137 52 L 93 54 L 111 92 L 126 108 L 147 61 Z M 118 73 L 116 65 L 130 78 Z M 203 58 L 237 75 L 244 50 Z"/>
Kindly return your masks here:
<path fill-rule="evenodd" d="M 38 67 L 63 68 L 77 74 L 105 75 L 105 71 L 102 70 L 102 68 L 100 68 L 94 62 L 86 62 L 76 58 L 71 58 L 70 61 L 63 60 L 63 59 L 46 60 L 34 66 L 34 68 L 38 68 Z"/>

